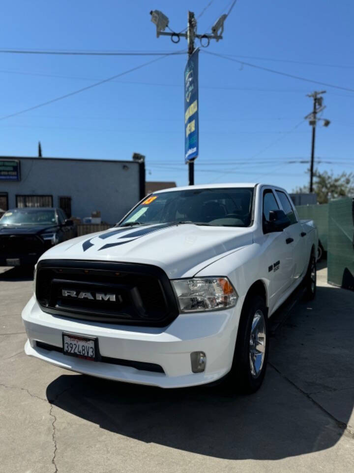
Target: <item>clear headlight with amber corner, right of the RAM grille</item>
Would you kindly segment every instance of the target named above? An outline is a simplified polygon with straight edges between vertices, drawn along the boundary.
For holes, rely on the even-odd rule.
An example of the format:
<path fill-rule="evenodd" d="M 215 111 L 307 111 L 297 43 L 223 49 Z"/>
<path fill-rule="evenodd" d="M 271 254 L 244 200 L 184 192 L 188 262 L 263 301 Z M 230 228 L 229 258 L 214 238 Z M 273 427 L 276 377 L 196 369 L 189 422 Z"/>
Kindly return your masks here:
<path fill-rule="evenodd" d="M 193 277 L 174 279 L 181 312 L 227 309 L 236 304 L 236 291 L 227 277 Z"/>

